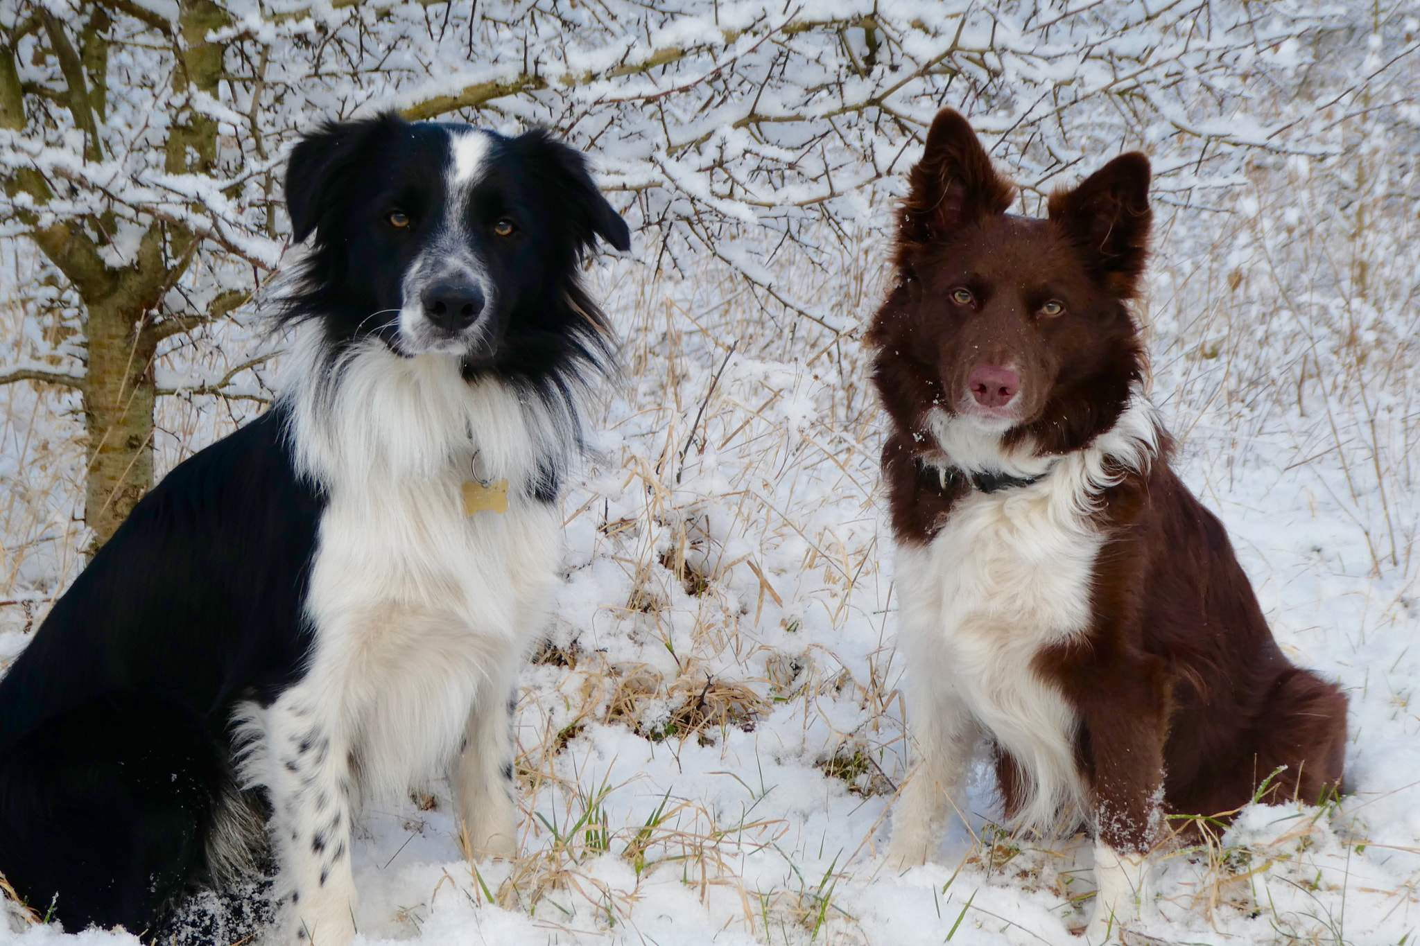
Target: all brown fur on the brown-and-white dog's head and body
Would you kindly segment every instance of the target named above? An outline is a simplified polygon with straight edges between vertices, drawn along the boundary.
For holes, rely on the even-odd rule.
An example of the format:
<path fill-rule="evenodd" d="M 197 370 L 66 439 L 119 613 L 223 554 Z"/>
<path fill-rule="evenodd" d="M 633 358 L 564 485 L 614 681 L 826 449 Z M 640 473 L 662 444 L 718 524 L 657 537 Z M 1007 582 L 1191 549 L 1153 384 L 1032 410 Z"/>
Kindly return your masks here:
<path fill-rule="evenodd" d="M 1037 455 L 1088 447 L 1145 374 L 1126 301 L 1147 255 L 1149 162 L 1116 157 L 1049 199 L 1047 220 L 1008 216 L 1000 177 L 966 119 L 937 115 L 912 170 L 893 262 L 873 318 L 873 380 L 890 418 L 883 475 L 899 542 L 926 545 L 971 489 L 926 418 L 976 410 L 966 379 L 1011 366 L 1020 394 L 1007 445 Z M 970 305 L 953 299 L 958 288 Z M 1064 313 L 1047 304 L 1064 301 Z M 1268 798 L 1316 803 L 1339 789 L 1346 698 L 1282 655 L 1218 519 L 1169 468 L 1169 440 L 1126 472 L 1095 513 L 1106 542 L 1093 566 L 1083 638 L 1037 654 L 1034 671 L 1079 715 L 1076 764 L 1100 838 L 1119 851 L 1159 840 L 1166 811 L 1217 814 Z M 1021 776 L 1000 756 L 1008 811 Z"/>

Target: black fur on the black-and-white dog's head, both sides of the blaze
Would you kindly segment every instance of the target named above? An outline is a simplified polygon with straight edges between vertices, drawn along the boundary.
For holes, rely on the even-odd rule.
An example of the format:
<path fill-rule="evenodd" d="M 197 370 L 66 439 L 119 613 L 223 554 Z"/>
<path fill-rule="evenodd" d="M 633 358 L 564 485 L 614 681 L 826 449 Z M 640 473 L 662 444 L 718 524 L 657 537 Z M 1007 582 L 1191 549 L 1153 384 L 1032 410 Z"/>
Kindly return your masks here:
<path fill-rule="evenodd" d="M 332 353 L 368 335 L 398 350 L 399 279 L 429 231 L 443 224 L 449 129 L 386 113 L 327 125 L 293 150 L 291 226 L 298 240 L 314 233 L 317 252 L 283 319 L 322 319 Z M 408 228 L 383 226 L 395 208 L 409 214 Z M 518 223 L 514 240 L 490 234 L 504 216 Z M 582 288 L 578 262 L 596 237 L 629 250 L 626 221 L 596 190 L 585 157 L 535 129 L 494 140 L 463 223 L 507 292 L 493 313 L 503 338 L 497 355 L 467 360 L 464 376 L 497 372 L 545 399 L 568 400 L 577 372 L 611 357 L 606 319 Z M 365 238 L 346 240 L 352 231 Z M 555 494 L 555 478 L 548 489 Z"/>

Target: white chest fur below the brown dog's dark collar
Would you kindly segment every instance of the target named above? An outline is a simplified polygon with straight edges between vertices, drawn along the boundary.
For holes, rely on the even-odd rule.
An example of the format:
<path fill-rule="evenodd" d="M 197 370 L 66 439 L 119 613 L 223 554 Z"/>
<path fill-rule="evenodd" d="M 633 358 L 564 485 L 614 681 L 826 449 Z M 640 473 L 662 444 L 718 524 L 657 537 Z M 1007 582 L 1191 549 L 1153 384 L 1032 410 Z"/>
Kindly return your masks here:
<path fill-rule="evenodd" d="M 1088 519 L 1058 515 L 1051 479 L 973 492 L 932 545 L 897 553 L 912 685 L 940 691 L 1015 757 L 1028 783 L 1020 820 L 1037 827 L 1076 800 L 1079 780 L 1075 713 L 1032 660 L 1088 627 L 1102 542 Z"/>

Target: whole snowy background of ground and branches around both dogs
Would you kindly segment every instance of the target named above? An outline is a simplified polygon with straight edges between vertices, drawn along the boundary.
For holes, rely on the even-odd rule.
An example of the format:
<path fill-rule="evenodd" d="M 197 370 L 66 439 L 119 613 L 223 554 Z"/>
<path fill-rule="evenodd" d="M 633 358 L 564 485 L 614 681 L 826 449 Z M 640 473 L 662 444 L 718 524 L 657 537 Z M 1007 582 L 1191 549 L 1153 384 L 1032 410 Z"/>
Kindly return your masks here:
<path fill-rule="evenodd" d="M 1228 526 L 1288 655 L 1352 701 L 1342 803 L 1254 806 L 1211 845 L 1163 858 L 1157 913 L 1133 933 L 1414 940 L 1413 0 L 1379 26 L 1356 3 L 835 0 L 814 17 L 838 23 L 798 31 L 781 28 L 792 10 L 750 0 L 494 1 L 471 18 L 398 0 L 229 9 L 207 38 L 230 40 L 233 78 L 190 98 L 169 81 L 166 40 L 115 14 L 133 41 L 111 51 L 104 160 L 82 157 L 41 96 L 28 129 L 0 130 L 0 176 L 40 170 L 55 190 L 43 206 L 0 196 L 0 362 L 84 370 L 78 296 L 23 241 L 20 211 L 89 233 L 109 214 L 111 265 L 155 218 L 189 226 L 204 243 L 162 305 L 200 313 L 270 286 L 285 221 L 267 227 L 267 187 L 278 196 L 300 129 L 528 62 L 545 89 L 466 118 L 567 129 L 636 228 L 630 254 L 591 272 L 623 372 L 564 499 L 551 647 L 523 675 L 523 852 L 467 864 L 442 784 L 429 810 L 369 811 L 355 850 L 366 942 L 1081 942 L 1068 930 L 1088 908 L 1089 845 L 1001 837 L 984 767 L 937 862 L 896 877 L 876 857 L 905 774 L 903 668 L 858 332 L 913 135 L 944 102 L 971 115 L 1028 211 L 1108 156 L 1150 153 L 1157 241 L 1137 309 L 1176 465 Z M 870 71 L 868 14 L 885 38 Z M 20 78 L 60 88 L 38 34 L 16 44 Z M 672 65 L 613 74 L 672 48 Z M 261 62 L 260 84 L 239 78 Z M 165 163 L 189 105 L 224 125 L 210 173 Z M 160 468 L 271 394 L 275 362 L 244 366 L 273 342 L 254 305 L 236 316 L 165 343 L 162 387 L 226 382 L 229 397 L 160 399 Z M 0 387 L 0 668 L 80 567 L 81 433 L 77 393 Z M 11 940 L 133 937 L 0 922 Z"/>

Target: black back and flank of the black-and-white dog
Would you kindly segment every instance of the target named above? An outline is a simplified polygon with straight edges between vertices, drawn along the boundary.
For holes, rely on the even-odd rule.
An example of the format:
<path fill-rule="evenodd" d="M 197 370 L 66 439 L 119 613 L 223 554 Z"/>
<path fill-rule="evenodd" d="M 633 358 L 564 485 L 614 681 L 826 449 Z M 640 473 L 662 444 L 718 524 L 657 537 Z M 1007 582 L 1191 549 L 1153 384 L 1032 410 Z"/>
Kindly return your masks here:
<path fill-rule="evenodd" d="M 281 425 L 173 469 L 0 679 L 0 872 L 67 929 L 136 933 L 202 869 L 234 705 L 301 672 L 322 499 Z"/>

